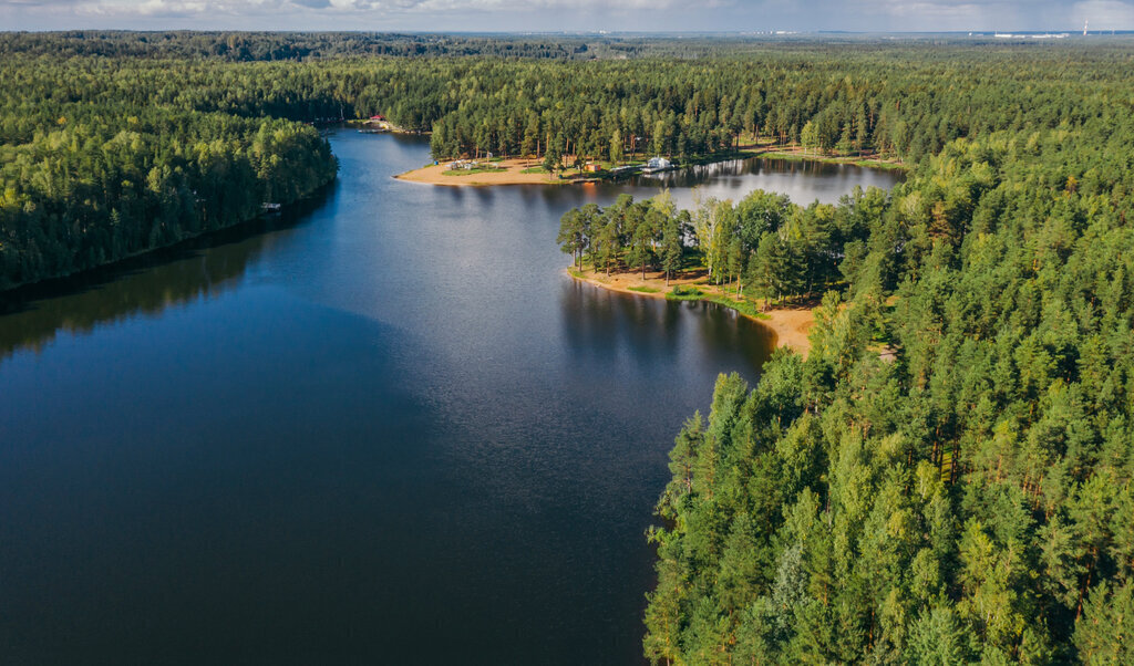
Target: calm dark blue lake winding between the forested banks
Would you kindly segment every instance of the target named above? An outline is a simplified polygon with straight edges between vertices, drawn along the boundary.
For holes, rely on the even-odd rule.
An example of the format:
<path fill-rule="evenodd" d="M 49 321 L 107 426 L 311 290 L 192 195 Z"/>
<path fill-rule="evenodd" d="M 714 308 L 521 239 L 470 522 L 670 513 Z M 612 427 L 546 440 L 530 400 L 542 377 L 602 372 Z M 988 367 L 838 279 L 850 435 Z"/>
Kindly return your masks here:
<path fill-rule="evenodd" d="M 0 316 L 3 663 L 641 660 L 674 435 L 769 336 L 564 274 L 564 211 L 660 181 L 420 186 L 420 139 L 332 144 L 302 210 Z M 895 181 L 717 170 L 666 179 Z"/>

